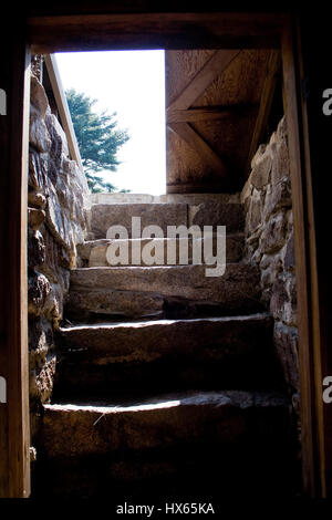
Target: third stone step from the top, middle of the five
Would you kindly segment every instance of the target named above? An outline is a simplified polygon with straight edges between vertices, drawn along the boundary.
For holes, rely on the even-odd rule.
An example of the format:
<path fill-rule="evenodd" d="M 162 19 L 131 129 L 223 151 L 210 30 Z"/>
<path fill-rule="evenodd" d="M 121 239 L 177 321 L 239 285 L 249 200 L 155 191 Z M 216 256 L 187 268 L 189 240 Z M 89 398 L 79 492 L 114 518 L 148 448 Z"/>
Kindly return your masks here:
<path fill-rule="evenodd" d="M 228 263 L 221 277 L 205 266 L 79 268 L 71 271 L 66 308 L 71 319 L 196 316 L 259 312 L 260 273 Z"/>

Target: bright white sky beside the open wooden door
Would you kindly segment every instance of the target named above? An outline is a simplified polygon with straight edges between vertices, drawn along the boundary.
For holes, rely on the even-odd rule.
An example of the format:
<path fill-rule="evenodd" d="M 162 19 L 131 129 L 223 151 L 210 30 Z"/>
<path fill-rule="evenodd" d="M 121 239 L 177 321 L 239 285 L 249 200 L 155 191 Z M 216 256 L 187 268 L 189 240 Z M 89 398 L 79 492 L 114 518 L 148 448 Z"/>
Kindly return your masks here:
<path fill-rule="evenodd" d="M 118 189 L 165 194 L 164 51 L 59 53 L 56 62 L 65 90 L 97 100 L 97 112 L 116 112 L 118 127 L 131 135 L 118 150 L 117 171 L 104 177 Z"/>

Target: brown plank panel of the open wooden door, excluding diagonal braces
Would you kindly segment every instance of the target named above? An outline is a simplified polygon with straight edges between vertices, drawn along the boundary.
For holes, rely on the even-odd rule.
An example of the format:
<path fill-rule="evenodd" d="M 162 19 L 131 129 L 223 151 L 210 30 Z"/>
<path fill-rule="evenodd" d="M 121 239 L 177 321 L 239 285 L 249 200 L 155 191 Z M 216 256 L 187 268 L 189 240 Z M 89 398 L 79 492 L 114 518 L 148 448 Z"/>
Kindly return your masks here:
<path fill-rule="evenodd" d="M 215 50 L 167 51 L 166 106 L 177 100 L 215 54 Z M 219 71 L 206 91 L 189 110 L 167 111 L 168 123 L 190 123 L 210 148 L 222 158 L 228 168 L 219 183 L 210 167 L 175 133 L 167 131 L 167 187 L 177 184 L 195 185 L 205 178 L 206 187 L 214 183 L 219 190 L 241 188 L 251 135 L 260 103 L 269 51 L 241 51 L 226 70 Z M 252 110 L 251 110 L 252 107 Z M 217 114 L 221 111 L 220 116 Z M 197 117 L 196 117 L 197 114 Z M 167 188 L 167 189 L 168 189 Z M 198 189 L 198 188 L 197 188 Z"/>

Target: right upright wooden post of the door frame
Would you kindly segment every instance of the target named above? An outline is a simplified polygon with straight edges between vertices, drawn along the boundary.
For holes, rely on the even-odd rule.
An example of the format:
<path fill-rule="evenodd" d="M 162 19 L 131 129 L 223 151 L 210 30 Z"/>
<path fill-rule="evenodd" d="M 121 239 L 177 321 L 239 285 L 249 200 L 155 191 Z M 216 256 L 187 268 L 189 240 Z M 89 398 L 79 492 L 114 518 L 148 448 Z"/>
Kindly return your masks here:
<path fill-rule="evenodd" d="M 325 493 L 320 305 L 308 116 L 302 97 L 301 62 L 297 30 L 290 19 L 282 37 L 282 66 L 294 220 L 302 480 L 304 495 L 319 498 Z"/>

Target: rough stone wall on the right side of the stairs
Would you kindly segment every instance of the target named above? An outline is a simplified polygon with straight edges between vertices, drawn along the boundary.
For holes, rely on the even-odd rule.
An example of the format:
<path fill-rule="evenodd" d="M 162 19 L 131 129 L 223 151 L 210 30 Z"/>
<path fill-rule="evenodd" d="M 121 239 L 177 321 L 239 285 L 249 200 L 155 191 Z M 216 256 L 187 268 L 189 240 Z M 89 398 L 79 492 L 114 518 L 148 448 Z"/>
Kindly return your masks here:
<path fill-rule="evenodd" d="M 246 260 L 259 264 L 262 300 L 274 318 L 274 346 L 295 409 L 299 406 L 298 318 L 287 122 L 260 145 L 242 190 Z"/>

